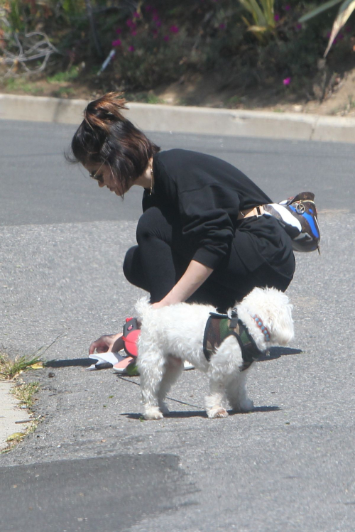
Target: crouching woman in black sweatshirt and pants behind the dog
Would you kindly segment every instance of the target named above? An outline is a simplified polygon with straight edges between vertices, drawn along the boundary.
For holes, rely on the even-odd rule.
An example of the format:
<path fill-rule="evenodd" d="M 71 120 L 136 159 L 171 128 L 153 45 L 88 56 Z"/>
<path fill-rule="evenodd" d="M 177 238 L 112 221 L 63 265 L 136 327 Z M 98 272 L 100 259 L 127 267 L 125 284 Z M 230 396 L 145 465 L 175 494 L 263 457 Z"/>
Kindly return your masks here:
<path fill-rule="evenodd" d="M 193 301 L 226 310 L 255 286 L 285 291 L 295 271 L 290 237 L 255 208 L 271 199 L 218 158 L 160 152 L 121 114 L 120 96 L 87 106 L 70 160 L 118 196 L 144 188 L 138 245 L 124 259 L 128 281 L 148 291 L 155 308 Z M 104 336 L 89 353 L 122 347 L 121 335 Z"/>

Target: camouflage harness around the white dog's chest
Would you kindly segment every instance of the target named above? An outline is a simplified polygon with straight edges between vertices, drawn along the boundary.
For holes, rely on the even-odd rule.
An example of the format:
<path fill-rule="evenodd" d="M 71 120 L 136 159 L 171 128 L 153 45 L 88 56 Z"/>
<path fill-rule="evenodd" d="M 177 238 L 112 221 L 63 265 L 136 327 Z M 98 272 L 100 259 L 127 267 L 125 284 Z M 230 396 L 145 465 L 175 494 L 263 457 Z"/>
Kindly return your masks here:
<path fill-rule="evenodd" d="M 265 351 L 261 351 L 256 347 L 249 330 L 239 320 L 236 309 L 232 311 L 231 317 L 226 314 L 209 314 L 203 338 L 203 352 L 208 361 L 211 359 L 212 354 L 216 352 L 217 347 L 229 336 L 234 336 L 241 348 L 243 364 L 239 368 L 240 371 L 248 369 L 255 360 L 265 354 Z"/>

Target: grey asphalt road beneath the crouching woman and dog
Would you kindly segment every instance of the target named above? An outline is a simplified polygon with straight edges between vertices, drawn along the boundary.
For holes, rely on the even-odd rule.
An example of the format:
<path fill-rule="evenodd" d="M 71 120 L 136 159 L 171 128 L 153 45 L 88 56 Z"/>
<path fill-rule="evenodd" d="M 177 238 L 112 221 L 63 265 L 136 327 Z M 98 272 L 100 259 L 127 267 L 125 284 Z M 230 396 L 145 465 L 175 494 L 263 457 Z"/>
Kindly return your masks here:
<path fill-rule="evenodd" d="M 147 422 L 137 378 L 84 371 L 141 295 L 121 273 L 141 191 L 121 202 L 67 165 L 73 131 L 0 122 L 1 344 L 57 338 L 26 376 L 43 421 L 0 456 L 1 532 L 354 531 L 353 146 L 151 135 L 225 158 L 274 200 L 315 192 L 322 255 L 297 255 L 296 337 L 255 364 L 252 413 L 208 420 L 207 381 L 188 371 L 171 416 Z"/>

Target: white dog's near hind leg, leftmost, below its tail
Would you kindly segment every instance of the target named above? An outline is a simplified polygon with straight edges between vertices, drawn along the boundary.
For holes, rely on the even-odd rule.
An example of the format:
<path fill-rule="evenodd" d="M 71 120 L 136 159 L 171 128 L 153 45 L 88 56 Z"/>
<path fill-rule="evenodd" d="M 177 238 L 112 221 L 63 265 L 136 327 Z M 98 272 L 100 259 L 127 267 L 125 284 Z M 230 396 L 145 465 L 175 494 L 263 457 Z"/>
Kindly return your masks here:
<path fill-rule="evenodd" d="M 165 372 L 165 359 L 156 350 L 149 352 L 142 349 L 142 352 L 138 355 L 137 366 L 141 377 L 143 416 L 146 419 L 162 419 L 158 396 Z"/>

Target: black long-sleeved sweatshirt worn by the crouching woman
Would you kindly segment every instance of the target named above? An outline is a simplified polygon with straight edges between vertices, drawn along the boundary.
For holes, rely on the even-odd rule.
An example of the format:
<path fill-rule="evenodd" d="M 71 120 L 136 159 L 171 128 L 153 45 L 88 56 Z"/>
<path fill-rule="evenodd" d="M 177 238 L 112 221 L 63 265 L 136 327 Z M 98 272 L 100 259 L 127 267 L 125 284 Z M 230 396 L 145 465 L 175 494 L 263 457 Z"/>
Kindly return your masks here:
<path fill-rule="evenodd" d="M 290 252 L 280 249 L 280 244 L 284 248 L 280 231 L 282 240 L 290 242 L 275 219 L 238 220 L 239 211 L 271 199 L 233 165 L 204 153 L 173 149 L 155 154 L 153 175 L 153 193 L 145 190 L 143 212 L 158 207 L 181 232 L 187 248 L 194 249 L 195 261 L 217 268 L 234 245 L 253 270 Z"/>

